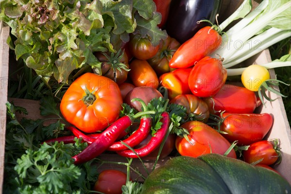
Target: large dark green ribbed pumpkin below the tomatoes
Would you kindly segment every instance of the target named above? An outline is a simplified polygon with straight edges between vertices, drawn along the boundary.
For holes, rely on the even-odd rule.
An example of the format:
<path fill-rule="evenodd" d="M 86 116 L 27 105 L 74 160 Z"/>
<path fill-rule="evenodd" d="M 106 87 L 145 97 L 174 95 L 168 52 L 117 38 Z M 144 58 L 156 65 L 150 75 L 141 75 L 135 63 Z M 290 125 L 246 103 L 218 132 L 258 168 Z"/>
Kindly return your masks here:
<path fill-rule="evenodd" d="M 219 154 L 178 156 L 155 169 L 142 194 L 279 194 L 289 182 L 274 171 Z"/>

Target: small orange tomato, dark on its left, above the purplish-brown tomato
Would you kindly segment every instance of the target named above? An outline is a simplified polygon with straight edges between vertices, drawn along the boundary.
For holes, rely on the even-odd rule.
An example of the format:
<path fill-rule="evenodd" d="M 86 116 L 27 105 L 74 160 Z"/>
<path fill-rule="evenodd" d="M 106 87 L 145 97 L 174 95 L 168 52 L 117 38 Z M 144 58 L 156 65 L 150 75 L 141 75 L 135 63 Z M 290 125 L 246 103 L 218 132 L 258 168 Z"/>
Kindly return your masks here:
<path fill-rule="evenodd" d="M 129 77 L 134 86 L 158 88 L 158 76 L 146 60 L 134 59 L 130 62 L 129 68 Z"/>

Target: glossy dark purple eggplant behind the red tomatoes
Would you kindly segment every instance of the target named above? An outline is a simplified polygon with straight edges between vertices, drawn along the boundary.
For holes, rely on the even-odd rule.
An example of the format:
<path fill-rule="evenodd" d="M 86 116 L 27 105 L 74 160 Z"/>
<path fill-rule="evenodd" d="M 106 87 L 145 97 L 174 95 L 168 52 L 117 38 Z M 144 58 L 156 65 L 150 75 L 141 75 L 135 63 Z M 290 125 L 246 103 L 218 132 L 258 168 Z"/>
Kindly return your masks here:
<path fill-rule="evenodd" d="M 205 21 L 197 24 L 197 21 L 208 19 L 216 23 L 215 16 L 221 5 L 222 0 L 172 0 L 165 29 L 182 44 L 201 28 L 211 25 Z"/>

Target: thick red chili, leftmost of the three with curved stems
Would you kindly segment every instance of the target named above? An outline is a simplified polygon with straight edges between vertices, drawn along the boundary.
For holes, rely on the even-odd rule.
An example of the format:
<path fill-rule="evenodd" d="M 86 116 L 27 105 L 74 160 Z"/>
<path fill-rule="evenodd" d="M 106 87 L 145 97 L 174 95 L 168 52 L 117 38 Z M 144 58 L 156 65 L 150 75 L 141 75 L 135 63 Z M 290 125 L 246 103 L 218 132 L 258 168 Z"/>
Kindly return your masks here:
<path fill-rule="evenodd" d="M 74 164 L 81 164 L 96 158 L 104 152 L 118 138 L 120 133 L 131 125 L 132 121 L 129 116 L 123 116 L 105 129 L 100 137 L 93 141 L 80 154 L 73 156 Z"/>

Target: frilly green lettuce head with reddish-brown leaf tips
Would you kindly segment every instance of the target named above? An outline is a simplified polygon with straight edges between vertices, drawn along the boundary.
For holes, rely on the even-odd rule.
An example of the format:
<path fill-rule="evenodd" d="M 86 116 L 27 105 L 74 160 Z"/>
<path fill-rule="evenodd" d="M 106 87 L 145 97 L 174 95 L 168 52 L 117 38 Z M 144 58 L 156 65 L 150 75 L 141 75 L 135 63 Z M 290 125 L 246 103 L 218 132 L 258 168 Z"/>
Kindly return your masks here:
<path fill-rule="evenodd" d="M 11 27 L 9 46 L 48 84 L 68 83 L 74 71 L 101 63 L 94 52 L 116 52 L 129 33 L 150 37 L 153 45 L 167 34 L 152 0 L 2 0 L 0 20 Z"/>

